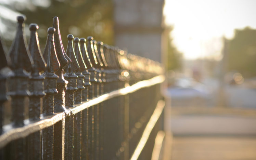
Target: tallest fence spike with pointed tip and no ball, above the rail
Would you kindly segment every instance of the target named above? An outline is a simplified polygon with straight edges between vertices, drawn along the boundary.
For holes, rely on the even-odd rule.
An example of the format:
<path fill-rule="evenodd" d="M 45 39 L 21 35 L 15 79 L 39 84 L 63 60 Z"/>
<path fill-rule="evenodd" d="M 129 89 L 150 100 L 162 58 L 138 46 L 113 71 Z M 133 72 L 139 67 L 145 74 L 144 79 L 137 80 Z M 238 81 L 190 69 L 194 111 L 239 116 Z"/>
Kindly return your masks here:
<path fill-rule="evenodd" d="M 59 78 L 57 79 L 58 93 L 54 96 L 54 112 L 62 112 L 66 111 L 64 97 L 68 83 L 68 81 L 66 81 L 63 77 L 63 70 L 68 64 L 71 63 L 71 59 L 67 56 L 63 48 L 58 17 L 53 18 L 53 28 L 56 29 L 54 34 L 54 44 L 56 54 L 60 62 L 60 68 L 56 71 L 56 75 L 59 76 Z"/>

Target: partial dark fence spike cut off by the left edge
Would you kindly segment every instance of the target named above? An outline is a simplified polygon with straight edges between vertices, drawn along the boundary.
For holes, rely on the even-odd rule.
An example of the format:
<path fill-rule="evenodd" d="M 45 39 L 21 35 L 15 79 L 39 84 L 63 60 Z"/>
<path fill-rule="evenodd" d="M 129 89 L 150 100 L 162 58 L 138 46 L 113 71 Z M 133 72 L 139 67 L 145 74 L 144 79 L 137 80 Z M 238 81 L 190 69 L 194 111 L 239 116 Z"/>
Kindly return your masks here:
<path fill-rule="evenodd" d="M 4 46 L 1 41 L 0 37 L 0 71 L 9 65 L 8 57 L 4 52 Z M 3 126 L 3 107 L 4 103 L 9 99 L 6 92 L 7 92 L 7 85 L 6 85 L 6 75 L 0 72 L 0 134 L 2 133 L 2 126 Z"/>

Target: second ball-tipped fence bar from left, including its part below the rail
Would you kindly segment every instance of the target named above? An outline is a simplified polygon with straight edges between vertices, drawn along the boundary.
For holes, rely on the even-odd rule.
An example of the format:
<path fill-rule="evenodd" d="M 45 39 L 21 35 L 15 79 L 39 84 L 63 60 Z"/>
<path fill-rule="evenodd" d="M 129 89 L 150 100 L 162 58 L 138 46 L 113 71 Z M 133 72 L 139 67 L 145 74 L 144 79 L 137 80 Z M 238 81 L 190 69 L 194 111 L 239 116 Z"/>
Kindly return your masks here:
<path fill-rule="evenodd" d="M 33 58 L 34 64 L 32 65 L 31 77 L 29 80 L 29 110 L 28 117 L 30 121 L 40 120 L 40 108 L 42 107 L 42 97 L 45 95 L 43 80 L 44 77 L 40 75 L 45 67 L 46 63 L 42 57 L 42 53 L 39 47 L 39 41 L 37 36 L 37 24 L 30 24 L 29 30 L 30 42 L 29 51 Z M 41 133 L 40 131 L 30 134 L 27 137 L 27 157 L 28 159 L 40 159 L 41 158 Z"/>

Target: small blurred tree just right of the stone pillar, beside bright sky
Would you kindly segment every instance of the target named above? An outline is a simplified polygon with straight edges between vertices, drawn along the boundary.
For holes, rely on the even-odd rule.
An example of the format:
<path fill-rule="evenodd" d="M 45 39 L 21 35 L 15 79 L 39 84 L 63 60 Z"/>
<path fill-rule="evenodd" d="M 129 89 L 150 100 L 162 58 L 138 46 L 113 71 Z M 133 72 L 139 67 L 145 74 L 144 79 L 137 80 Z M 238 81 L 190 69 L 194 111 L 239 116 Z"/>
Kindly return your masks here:
<path fill-rule="evenodd" d="M 167 44 L 167 70 L 179 70 L 182 67 L 182 53 L 180 53 L 171 43 L 172 39 L 168 36 Z"/>

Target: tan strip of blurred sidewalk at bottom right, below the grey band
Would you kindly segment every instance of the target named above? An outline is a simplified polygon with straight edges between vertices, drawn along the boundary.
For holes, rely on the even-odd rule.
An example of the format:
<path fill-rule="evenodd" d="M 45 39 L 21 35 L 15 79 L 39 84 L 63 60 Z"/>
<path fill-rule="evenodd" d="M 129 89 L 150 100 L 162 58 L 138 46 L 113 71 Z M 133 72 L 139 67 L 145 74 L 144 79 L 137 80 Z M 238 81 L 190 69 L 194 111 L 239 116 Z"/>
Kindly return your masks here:
<path fill-rule="evenodd" d="M 171 160 L 256 160 L 256 137 L 174 137 Z"/>

